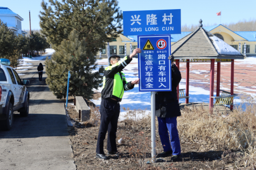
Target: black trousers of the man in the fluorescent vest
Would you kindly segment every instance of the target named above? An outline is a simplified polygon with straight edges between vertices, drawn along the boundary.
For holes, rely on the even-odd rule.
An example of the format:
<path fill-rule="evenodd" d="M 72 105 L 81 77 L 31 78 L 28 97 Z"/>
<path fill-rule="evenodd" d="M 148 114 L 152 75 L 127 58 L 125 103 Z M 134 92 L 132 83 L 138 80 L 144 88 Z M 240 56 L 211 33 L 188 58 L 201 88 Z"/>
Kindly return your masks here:
<path fill-rule="evenodd" d="M 96 153 L 104 154 L 103 145 L 104 139 L 108 131 L 108 145 L 107 150 L 110 152 L 117 152 L 116 148 L 116 130 L 117 122 L 120 114 L 120 104 L 106 99 L 101 100 L 100 104 L 100 130 L 98 135 L 98 142 Z"/>

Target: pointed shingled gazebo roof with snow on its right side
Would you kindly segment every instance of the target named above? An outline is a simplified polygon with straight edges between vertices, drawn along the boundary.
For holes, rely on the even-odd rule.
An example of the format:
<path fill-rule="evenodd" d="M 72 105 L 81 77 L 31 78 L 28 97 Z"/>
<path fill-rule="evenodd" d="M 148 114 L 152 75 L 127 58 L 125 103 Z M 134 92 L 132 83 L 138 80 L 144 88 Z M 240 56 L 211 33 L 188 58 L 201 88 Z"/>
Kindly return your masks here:
<path fill-rule="evenodd" d="M 175 59 L 244 59 L 238 50 L 202 26 L 200 24 L 195 31 L 171 45 L 171 55 Z"/>

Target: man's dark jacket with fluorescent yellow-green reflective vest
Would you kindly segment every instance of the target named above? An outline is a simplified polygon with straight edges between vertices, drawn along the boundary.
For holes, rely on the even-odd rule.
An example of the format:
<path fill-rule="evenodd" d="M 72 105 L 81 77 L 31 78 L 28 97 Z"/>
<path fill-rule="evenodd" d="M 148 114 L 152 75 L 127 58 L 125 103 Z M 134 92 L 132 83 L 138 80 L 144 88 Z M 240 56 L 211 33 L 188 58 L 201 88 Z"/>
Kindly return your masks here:
<path fill-rule="evenodd" d="M 101 98 L 114 98 L 117 101 L 121 101 L 123 92 L 134 88 L 131 82 L 126 82 L 126 77 L 124 73 L 121 72 L 132 59 L 133 58 L 130 59 L 129 56 L 126 56 L 116 64 L 110 65 L 104 70 Z"/>

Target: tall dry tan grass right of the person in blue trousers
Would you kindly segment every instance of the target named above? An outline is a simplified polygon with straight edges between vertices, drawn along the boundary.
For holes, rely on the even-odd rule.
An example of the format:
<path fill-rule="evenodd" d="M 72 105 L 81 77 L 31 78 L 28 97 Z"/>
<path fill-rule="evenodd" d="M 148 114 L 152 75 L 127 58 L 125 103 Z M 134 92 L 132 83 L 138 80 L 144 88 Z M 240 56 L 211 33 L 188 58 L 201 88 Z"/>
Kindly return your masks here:
<path fill-rule="evenodd" d="M 241 105 L 229 114 L 211 113 L 202 107 L 185 107 L 178 117 L 179 136 L 202 140 L 216 149 L 243 152 L 239 166 L 256 167 L 256 105 L 253 98 L 241 97 Z"/>

